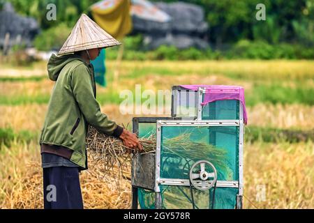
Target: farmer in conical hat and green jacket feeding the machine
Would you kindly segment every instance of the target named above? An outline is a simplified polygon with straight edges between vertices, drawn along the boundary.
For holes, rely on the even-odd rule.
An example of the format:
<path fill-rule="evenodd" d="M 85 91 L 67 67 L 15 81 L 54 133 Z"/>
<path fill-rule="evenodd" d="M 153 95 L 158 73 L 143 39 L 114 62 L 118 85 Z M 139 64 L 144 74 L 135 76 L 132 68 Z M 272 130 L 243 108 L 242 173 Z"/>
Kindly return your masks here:
<path fill-rule="evenodd" d="M 58 56 L 50 57 L 48 75 L 55 84 L 39 140 L 44 208 L 83 208 L 79 172 L 87 169 L 89 125 L 142 151 L 136 135 L 110 121 L 96 100 L 90 61 L 114 45 L 119 42 L 83 14 Z"/>

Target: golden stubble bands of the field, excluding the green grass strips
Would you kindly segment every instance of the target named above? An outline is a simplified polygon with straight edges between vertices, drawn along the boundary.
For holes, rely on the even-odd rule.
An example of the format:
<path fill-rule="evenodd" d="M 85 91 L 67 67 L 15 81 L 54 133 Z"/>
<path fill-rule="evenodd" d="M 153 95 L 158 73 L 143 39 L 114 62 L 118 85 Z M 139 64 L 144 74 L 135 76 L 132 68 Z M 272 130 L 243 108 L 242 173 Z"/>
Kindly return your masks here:
<path fill-rule="evenodd" d="M 107 69 L 114 70 L 114 61 Z M 45 64 L 39 63 L 34 75 L 45 75 Z M 132 89 L 143 84 L 145 89 L 170 89 L 177 84 L 241 84 L 252 89 L 253 80 L 271 82 L 276 77 L 283 86 L 297 84 L 303 79 L 306 86 L 313 85 L 312 61 L 188 61 L 184 62 L 128 62 L 121 64 L 119 90 Z M 13 69 L 0 66 L 1 75 L 10 77 L 32 75 L 31 69 Z M 170 72 L 163 77 L 163 69 Z M 6 72 L 10 70 L 10 72 Z M 137 73 L 142 70 L 142 73 Z M 179 71 L 178 71 L 179 70 Z M 225 72 L 241 77 L 233 79 Z M 174 74 L 171 74 L 174 72 Z M 134 75 L 134 77 L 132 76 Z M 98 94 L 112 90 L 112 71 L 108 73 L 108 87 Z M 1 77 L 1 76 L 0 76 Z M 53 82 L 40 81 L 0 82 L 1 95 L 22 97 L 50 94 Z M 118 90 L 118 91 L 119 91 Z M 117 123 L 131 122 L 131 115 L 122 115 L 119 105 L 106 104 L 102 111 Z M 47 111 L 45 103 L 0 105 L 0 128 L 13 128 L 15 132 L 27 130 L 39 134 Z M 250 126 L 287 130 L 313 130 L 314 106 L 304 104 L 271 105 L 257 103 L 248 107 Z M 114 180 L 104 182 L 99 169 L 90 160 L 89 171 L 81 174 L 85 208 L 130 208 L 130 182 L 121 180 L 117 189 Z M 290 144 L 255 141 L 244 145 L 244 208 L 314 208 L 314 144 L 312 141 Z M 12 141 L 10 147 L 0 149 L 0 208 L 43 208 L 40 153 L 36 140 L 29 143 Z M 264 199 L 258 198 L 264 188 Z"/>

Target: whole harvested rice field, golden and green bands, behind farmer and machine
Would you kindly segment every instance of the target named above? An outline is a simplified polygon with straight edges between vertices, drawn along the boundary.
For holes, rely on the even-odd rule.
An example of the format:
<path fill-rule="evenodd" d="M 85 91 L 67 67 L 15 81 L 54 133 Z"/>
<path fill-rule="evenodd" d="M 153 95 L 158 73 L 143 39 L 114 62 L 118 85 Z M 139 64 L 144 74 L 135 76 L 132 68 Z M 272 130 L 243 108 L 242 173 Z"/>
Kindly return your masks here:
<path fill-rule="evenodd" d="M 155 93 L 179 84 L 244 86 L 244 208 L 314 208 L 313 61 L 122 61 L 119 84 L 115 64 L 107 61 L 107 87 L 97 86 L 97 99 L 128 129 L 133 116 L 170 116 L 165 107 L 158 115 L 123 114 L 140 106 L 120 106 L 121 91 L 135 95 L 135 84 Z M 0 208 L 43 208 L 38 137 L 54 83 L 45 62 L 0 70 Z M 130 165 L 117 178 L 117 165 L 104 173 L 93 155 L 80 174 L 84 208 L 130 208 Z"/>

